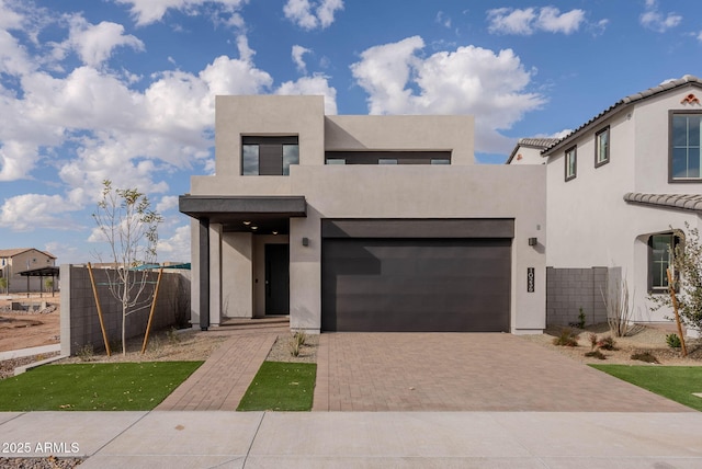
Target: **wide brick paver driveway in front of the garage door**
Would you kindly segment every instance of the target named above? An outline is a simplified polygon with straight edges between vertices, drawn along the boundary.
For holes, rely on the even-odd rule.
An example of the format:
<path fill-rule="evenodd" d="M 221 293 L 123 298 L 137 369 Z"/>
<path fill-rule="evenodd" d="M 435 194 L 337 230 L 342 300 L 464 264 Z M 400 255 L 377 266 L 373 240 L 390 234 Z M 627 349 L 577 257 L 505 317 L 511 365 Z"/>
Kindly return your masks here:
<path fill-rule="evenodd" d="M 316 411 L 692 411 L 511 334 L 319 339 Z"/>

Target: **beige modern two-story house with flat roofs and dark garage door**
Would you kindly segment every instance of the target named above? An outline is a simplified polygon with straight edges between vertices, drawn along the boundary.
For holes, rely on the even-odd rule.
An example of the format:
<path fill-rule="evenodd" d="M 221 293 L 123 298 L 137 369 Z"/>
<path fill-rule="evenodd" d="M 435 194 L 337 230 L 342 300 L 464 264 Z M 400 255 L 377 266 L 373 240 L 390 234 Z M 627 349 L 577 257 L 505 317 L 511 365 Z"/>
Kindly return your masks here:
<path fill-rule="evenodd" d="M 471 116 L 326 116 L 322 96 L 217 96 L 193 176 L 192 322 L 541 332 L 546 167 L 475 165 Z"/>

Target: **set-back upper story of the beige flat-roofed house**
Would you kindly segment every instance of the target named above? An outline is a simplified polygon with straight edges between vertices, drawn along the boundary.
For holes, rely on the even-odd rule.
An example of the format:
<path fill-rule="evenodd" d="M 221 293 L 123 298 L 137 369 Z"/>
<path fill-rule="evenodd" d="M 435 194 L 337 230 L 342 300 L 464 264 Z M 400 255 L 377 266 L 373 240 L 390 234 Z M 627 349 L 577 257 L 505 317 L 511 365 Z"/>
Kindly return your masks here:
<path fill-rule="evenodd" d="M 324 96 L 217 96 L 216 174 L 193 176 L 192 193 L 286 195 L 310 167 L 473 165 L 473 116 L 327 116 Z"/>

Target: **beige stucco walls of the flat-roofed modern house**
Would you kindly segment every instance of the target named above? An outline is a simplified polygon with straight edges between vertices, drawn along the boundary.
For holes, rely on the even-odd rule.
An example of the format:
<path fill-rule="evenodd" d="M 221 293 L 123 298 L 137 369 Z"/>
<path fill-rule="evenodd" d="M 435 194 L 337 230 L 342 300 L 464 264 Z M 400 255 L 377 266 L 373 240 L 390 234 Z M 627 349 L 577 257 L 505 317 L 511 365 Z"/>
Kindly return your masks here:
<path fill-rule="evenodd" d="M 513 218 L 513 332 L 545 327 L 546 169 L 474 165 L 471 116 L 324 116 L 321 96 L 217 96 L 216 175 L 193 176 L 192 195 L 303 195 L 307 217 L 290 220 L 291 327 L 321 325 L 321 218 Z M 242 176 L 241 136 L 297 135 L 288 176 Z M 325 150 L 451 150 L 450 165 L 325 165 Z M 193 224 L 193 288 L 199 283 Z M 440 237 L 441 233 L 438 233 Z M 283 237 L 210 229 L 211 323 L 264 314 L 263 247 Z M 309 245 L 302 245 L 302 238 Z M 528 245 L 528 238 L 540 245 Z M 536 289 L 526 293 L 526 270 Z M 257 283 L 258 279 L 258 283 Z M 236 295 L 234 293 L 236 291 Z M 199 302 L 193 290 L 193 322 Z"/>

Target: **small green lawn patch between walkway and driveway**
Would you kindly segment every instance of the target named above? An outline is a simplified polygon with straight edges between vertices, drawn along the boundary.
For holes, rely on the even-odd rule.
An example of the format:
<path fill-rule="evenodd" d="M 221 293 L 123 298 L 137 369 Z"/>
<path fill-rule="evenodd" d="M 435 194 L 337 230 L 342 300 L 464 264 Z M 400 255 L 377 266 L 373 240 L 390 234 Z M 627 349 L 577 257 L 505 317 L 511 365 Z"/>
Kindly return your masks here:
<path fill-rule="evenodd" d="M 309 411 L 315 390 L 314 363 L 263 362 L 238 411 Z"/>

